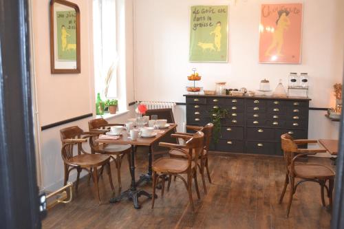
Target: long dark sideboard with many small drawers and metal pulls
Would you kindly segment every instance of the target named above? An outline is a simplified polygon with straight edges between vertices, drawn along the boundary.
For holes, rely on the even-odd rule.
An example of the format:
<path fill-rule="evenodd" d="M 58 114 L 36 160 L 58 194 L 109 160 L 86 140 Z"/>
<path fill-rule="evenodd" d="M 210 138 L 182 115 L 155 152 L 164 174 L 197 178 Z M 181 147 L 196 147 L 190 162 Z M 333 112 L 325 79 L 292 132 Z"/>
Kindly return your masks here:
<path fill-rule="evenodd" d="M 211 150 L 228 153 L 283 155 L 281 135 L 308 138 L 310 98 L 273 96 L 205 96 L 186 97 L 186 124 L 204 126 L 211 122 L 213 107 L 228 110 L 222 120 L 219 142 Z"/>

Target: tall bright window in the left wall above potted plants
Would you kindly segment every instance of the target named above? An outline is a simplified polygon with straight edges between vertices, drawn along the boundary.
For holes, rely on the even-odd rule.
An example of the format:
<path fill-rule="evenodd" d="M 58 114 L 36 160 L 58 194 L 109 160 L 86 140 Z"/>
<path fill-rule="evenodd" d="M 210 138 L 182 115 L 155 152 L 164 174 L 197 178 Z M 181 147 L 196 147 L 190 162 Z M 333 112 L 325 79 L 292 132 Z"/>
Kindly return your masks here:
<path fill-rule="evenodd" d="M 118 99 L 127 109 L 125 90 L 125 1 L 93 1 L 95 92 L 103 100 Z M 122 87 L 124 85 L 124 87 Z"/>

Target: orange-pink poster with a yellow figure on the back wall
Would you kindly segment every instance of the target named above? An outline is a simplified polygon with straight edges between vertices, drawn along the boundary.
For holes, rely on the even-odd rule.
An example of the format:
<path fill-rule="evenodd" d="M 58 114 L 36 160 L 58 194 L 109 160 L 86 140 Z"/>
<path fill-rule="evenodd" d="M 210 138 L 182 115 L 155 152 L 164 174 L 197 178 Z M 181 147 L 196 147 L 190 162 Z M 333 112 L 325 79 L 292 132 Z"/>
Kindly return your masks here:
<path fill-rule="evenodd" d="M 263 4 L 259 63 L 301 63 L 302 3 Z"/>

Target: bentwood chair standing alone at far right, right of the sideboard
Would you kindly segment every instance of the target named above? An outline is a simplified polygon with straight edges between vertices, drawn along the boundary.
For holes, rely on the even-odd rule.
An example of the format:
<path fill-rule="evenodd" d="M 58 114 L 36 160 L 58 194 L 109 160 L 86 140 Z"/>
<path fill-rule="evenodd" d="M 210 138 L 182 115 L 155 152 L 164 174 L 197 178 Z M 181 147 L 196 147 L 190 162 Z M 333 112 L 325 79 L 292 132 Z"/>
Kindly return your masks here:
<path fill-rule="evenodd" d="M 321 164 L 297 164 L 298 157 L 303 155 L 314 155 L 316 153 L 325 153 L 325 149 L 299 149 L 298 145 L 317 143 L 316 140 L 294 140 L 288 133 L 281 135 L 281 144 L 286 161 L 286 181 L 284 182 L 279 204 L 283 201 L 286 188 L 290 184 L 289 201 L 287 208 L 287 217 L 289 216 L 290 206 L 292 205 L 292 196 L 297 190 L 297 186 L 303 182 L 316 182 L 321 186 L 321 202 L 325 206 L 324 188 L 327 190 L 329 207 L 332 208 L 332 192 L 334 188 L 334 171 Z M 301 179 L 295 184 L 295 178 Z M 328 187 L 326 182 L 328 180 Z"/>

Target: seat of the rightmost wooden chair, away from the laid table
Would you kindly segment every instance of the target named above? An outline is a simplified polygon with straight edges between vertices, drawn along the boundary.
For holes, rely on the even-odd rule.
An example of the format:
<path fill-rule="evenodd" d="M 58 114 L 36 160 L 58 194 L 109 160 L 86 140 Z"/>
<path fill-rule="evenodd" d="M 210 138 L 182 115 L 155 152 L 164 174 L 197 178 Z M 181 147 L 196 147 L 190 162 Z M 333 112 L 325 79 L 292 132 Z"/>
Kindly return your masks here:
<path fill-rule="evenodd" d="M 307 179 L 324 179 L 334 177 L 336 173 L 331 168 L 321 164 L 295 164 L 297 177 Z"/>

